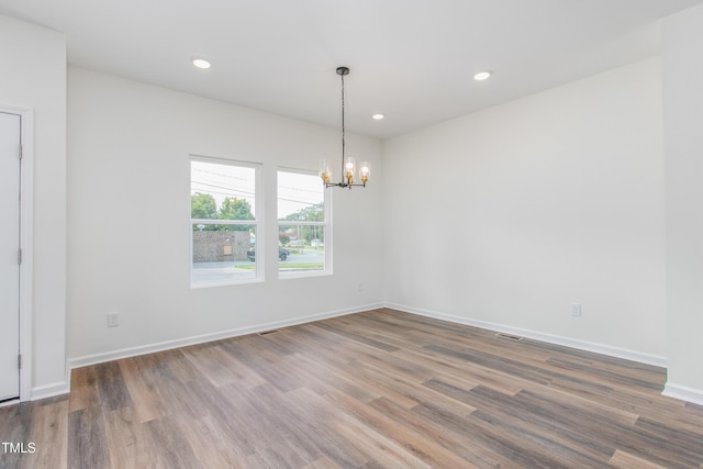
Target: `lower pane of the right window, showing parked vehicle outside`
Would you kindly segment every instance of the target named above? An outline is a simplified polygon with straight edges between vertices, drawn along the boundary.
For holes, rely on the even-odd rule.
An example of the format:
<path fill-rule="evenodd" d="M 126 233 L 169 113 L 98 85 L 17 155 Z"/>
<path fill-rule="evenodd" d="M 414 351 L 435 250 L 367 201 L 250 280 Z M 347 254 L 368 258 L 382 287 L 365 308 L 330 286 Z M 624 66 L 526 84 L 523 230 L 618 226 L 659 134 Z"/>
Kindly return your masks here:
<path fill-rule="evenodd" d="M 278 238 L 280 272 L 325 270 L 325 226 L 280 224 Z"/>

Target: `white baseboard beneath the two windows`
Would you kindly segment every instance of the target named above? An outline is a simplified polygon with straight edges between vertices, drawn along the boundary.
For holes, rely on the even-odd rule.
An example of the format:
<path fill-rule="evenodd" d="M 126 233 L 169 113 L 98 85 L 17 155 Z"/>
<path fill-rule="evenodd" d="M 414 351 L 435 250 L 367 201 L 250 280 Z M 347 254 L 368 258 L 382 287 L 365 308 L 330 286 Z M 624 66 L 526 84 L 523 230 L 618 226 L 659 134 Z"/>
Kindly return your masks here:
<path fill-rule="evenodd" d="M 257 324 L 253 326 L 239 327 L 235 330 L 221 331 L 211 334 L 202 334 L 190 337 L 178 338 L 174 340 L 159 342 L 155 344 L 141 345 L 137 347 L 121 348 L 118 350 L 110 350 L 100 354 L 86 355 L 82 357 L 75 357 L 68 359 L 68 369 L 87 367 L 90 365 L 102 364 L 105 361 L 119 360 L 121 358 L 135 357 L 138 355 L 153 354 L 156 351 L 169 350 L 172 348 L 187 347 L 189 345 L 203 344 L 213 340 L 221 340 L 223 338 L 237 337 L 247 334 L 256 334 L 263 331 L 270 331 L 280 327 L 289 327 L 299 324 L 311 323 L 314 321 L 327 320 L 331 317 L 344 316 L 347 314 L 360 313 L 362 311 L 375 310 L 382 308 L 381 303 L 366 304 L 362 306 L 356 306 L 345 310 L 336 310 L 326 313 L 312 314 L 308 316 L 294 317 L 284 321 L 275 321 L 270 323 Z"/>

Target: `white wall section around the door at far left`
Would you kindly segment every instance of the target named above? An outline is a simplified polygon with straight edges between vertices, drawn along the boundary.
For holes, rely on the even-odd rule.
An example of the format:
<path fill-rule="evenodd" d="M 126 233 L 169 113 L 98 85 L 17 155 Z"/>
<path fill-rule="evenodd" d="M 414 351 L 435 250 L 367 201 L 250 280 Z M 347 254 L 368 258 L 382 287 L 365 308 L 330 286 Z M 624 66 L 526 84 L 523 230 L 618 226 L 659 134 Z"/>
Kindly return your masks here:
<path fill-rule="evenodd" d="M 0 103 L 34 114 L 32 393 L 66 390 L 66 43 L 0 16 Z M 24 398 L 24 397 L 23 397 Z"/>

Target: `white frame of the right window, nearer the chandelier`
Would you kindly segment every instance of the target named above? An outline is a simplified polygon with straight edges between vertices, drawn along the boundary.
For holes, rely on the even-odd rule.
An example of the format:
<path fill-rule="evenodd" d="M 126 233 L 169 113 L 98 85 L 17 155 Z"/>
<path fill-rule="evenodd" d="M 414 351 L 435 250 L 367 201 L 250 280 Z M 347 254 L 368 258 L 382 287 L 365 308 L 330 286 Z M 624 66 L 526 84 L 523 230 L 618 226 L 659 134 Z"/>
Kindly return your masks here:
<path fill-rule="evenodd" d="M 304 176 L 313 176 L 316 179 L 320 179 L 317 171 L 313 171 L 310 169 L 301 169 L 301 168 L 291 168 L 279 166 L 276 170 L 276 239 L 279 238 L 280 227 L 281 225 L 305 225 L 305 226 L 322 226 L 324 228 L 324 268 L 321 270 L 281 270 L 280 264 L 277 269 L 279 279 L 299 279 L 299 278 L 309 278 L 309 277 L 324 277 L 331 276 L 333 273 L 332 266 L 332 191 L 328 191 L 324 188 L 322 180 L 320 180 L 320 185 L 323 188 L 323 203 L 324 203 L 324 221 L 322 222 L 313 222 L 313 221 L 293 221 L 293 220 L 278 220 L 278 204 L 280 200 L 279 193 L 279 174 L 280 172 L 292 172 Z"/>

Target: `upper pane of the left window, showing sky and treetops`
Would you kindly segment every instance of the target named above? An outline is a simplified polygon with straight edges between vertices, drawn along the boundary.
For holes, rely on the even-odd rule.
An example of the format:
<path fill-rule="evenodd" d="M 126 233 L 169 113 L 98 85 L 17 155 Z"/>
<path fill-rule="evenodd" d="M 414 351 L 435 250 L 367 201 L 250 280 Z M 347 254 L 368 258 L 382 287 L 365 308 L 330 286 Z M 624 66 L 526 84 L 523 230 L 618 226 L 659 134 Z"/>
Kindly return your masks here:
<path fill-rule="evenodd" d="M 190 213 L 196 220 L 254 220 L 256 169 L 190 161 Z"/>

